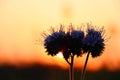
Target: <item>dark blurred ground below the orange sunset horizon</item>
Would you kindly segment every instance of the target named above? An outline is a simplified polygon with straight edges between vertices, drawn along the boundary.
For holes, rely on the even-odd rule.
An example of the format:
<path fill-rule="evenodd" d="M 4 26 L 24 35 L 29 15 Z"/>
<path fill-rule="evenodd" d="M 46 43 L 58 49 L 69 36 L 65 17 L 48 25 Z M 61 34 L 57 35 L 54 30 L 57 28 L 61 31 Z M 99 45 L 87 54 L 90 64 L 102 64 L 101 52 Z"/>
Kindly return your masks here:
<path fill-rule="evenodd" d="M 75 80 L 80 80 L 80 70 L 75 70 Z M 0 80 L 69 80 L 68 70 L 59 67 L 34 65 L 27 67 L 0 66 Z M 120 80 L 120 70 L 87 72 L 86 80 Z"/>

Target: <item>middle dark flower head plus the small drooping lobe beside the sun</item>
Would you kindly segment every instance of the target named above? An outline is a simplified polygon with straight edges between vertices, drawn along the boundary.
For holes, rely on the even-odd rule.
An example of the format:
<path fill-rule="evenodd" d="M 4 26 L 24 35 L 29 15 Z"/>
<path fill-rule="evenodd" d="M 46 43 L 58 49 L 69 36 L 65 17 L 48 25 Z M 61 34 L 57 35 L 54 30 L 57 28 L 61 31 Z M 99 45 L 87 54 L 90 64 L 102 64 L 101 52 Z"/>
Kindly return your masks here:
<path fill-rule="evenodd" d="M 82 40 L 84 33 L 81 30 L 72 30 L 66 33 L 66 46 L 63 49 L 64 58 L 68 59 L 70 55 L 80 56 L 82 54 Z"/>

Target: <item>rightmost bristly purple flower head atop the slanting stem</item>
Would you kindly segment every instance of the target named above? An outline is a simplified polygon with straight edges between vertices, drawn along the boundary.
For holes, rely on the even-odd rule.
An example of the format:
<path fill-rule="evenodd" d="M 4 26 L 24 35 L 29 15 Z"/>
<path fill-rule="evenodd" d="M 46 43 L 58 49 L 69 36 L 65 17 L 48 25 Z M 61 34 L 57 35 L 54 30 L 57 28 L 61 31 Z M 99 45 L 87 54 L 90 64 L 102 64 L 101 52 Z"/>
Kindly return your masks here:
<path fill-rule="evenodd" d="M 92 57 L 100 56 L 105 48 L 103 35 L 103 28 L 95 29 L 94 27 L 88 27 L 86 37 L 83 40 L 84 52 L 90 52 Z"/>

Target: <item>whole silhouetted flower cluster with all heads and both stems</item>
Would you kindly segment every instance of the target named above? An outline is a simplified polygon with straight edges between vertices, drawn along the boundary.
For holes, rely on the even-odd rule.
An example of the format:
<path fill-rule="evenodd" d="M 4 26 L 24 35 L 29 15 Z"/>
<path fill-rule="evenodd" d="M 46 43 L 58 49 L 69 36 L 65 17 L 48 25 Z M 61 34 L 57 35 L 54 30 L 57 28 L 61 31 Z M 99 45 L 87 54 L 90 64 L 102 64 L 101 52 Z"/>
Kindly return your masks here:
<path fill-rule="evenodd" d="M 70 65 L 70 80 L 73 80 L 73 63 L 74 56 L 81 56 L 88 53 L 85 65 L 82 71 L 81 79 L 84 80 L 86 65 L 89 54 L 92 57 L 100 56 L 105 49 L 105 31 L 104 28 L 95 28 L 91 24 L 86 24 L 87 34 L 80 29 L 75 29 L 71 24 L 65 31 L 63 25 L 60 28 L 51 29 L 51 33 L 44 33 L 44 47 L 48 55 L 55 56 L 58 52 L 62 52 L 64 59 Z M 68 60 L 70 59 L 70 60 Z"/>

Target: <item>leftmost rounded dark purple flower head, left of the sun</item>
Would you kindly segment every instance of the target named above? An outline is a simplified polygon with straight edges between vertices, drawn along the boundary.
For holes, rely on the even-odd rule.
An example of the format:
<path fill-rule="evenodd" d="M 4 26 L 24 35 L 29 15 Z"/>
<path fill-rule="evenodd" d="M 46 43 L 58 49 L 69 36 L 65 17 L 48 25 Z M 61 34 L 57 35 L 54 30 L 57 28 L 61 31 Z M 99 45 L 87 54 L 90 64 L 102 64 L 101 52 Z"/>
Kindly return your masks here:
<path fill-rule="evenodd" d="M 66 42 L 65 32 L 53 32 L 51 35 L 47 36 L 44 41 L 44 46 L 48 54 L 54 56 L 59 51 L 61 51 Z"/>

